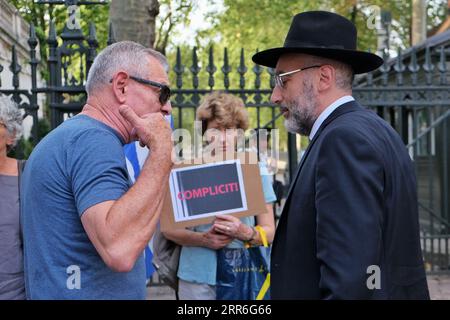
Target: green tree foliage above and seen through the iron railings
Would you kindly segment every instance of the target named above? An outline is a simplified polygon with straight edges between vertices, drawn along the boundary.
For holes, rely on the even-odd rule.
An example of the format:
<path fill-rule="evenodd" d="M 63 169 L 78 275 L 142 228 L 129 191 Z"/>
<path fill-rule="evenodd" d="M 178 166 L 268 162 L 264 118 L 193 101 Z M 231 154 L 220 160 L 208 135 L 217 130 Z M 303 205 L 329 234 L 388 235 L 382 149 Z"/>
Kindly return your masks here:
<path fill-rule="evenodd" d="M 56 22 L 58 34 L 61 33 L 67 21 L 67 8 L 63 5 L 39 5 L 35 1 L 10 0 L 29 22 L 36 26 L 37 35 L 41 43 L 41 57 L 45 62 L 47 58 L 46 37 L 48 35 L 49 20 Z M 157 35 L 155 48 L 165 53 L 172 68 L 176 61 L 176 48 L 181 50 L 181 60 L 184 65 L 182 88 L 193 87 L 193 77 L 190 71 L 193 66 L 193 44 L 197 46 L 198 67 L 200 72 L 199 88 L 209 88 L 209 74 L 206 72 L 210 66 L 209 52 L 214 53 L 214 89 L 224 88 L 224 76 L 221 68 L 224 67 L 224 49 L 228 49 L 230 67 L 230 88 L 240 87 L 240 76 L 237 72 L 240 66 L 240 55 L 243 49 L 245 73 L 245 88 L 255 87 L 255 65 L 251 56 L 257 50 L 274 46 L 282 46 L 286 32 L 296 13 L 307 10 L 335 11 L 352 20 L 358 29 L 358 48 L 375 52 L 377 49 L 377 29 L 375 17 L 380 10 L 391 13 L 391 48 L 406 48 L 410 45 L 411 0 L 160 0 L 160 14 L 157 22 Z M 201 6 L 208 6 L 207 10 Z M 212 8 L 212 9 L 211 9 Z M 219 8 L 219 9 L 217 9 Z M 106 46 L 108 28 L 108 5 L 80 6 L 80 23 L 84 34 L 87 35 L 89 22 L 94 22 L 97 28 L 99 49 Z M 442 23 L 446 15 L 446 0 L 427 1 L 428 30 L 432 30 Z M 199 17 L 198 12 L 206 12 Z M 195 18 L 194 18 L 195 17 Z M 188 36 L 186 31 L 191 28 L 193 19 L 203 19 L 208 27 L 198 30 L 194 35 Z M 44 64 L 45 66 L 45 64 Z M 45 68 L 43 69 L 45 70 Z M 261 74 L 261 88 L 270 90 L 270 75 L 263 68 Z M 170 79 L 173 87 L 177 86 L 175 72 L 171 71 Z M 176 101 L 174 102 L 176 105 Z M 256 119 L 260 117 L 260 125 L 267 123 L 273 116 L 272 108 L 263 108 L 259 115 L 256 109 L 250 109 L 251 127 L 256 127 Z M 180 117 L 174 111 L 175 119 Z M 185 109 L 181 114 L 183 126 L 191 128 L 194 119 L 194 110 Z M 282 127 L 282 118 L 276 122 Z M 176 121 L 177 123 L 177 121 Z M 286 140 L 286 133 L 281 130 L 280 138 Z"/>

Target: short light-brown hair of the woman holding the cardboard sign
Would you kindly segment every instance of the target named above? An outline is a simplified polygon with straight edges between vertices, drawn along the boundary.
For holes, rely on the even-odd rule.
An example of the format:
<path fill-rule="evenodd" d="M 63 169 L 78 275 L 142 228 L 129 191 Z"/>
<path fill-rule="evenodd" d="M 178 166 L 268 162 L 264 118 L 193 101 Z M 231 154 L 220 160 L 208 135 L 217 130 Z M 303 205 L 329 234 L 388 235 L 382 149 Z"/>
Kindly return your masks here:
<path fill-rule="evenodd" d="M 232 94 L 213 92 L 206 95 L 197 108 L 197 120 L 202 121 L 202 131 L 205 133 L 208 122 L 216 121 L 223 129 L 248 128 L 248 112 L 244 101 Z"/>

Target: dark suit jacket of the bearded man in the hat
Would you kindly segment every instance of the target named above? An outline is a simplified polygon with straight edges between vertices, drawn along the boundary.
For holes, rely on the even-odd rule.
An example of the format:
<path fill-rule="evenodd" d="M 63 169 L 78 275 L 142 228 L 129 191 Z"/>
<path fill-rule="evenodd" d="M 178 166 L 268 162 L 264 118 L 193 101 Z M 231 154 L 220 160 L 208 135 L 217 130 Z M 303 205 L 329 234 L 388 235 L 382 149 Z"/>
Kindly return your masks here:
<path fill-rule="evenodd" d="M 323 122 L 301 159 L 271 273 L 273 299 L 429 298 L 412 161 L 355 101 Z"/>

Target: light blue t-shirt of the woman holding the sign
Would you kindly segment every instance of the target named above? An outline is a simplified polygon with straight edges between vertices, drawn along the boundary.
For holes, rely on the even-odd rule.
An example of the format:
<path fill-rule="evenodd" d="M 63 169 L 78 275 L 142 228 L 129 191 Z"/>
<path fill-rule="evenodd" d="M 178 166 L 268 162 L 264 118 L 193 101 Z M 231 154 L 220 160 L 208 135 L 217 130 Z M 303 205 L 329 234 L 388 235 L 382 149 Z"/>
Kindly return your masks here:
<path fill-rule="evenodd" d="M 264 163 L 259 163 L 262 189 L 266 203 L 276 201 L 272 187 L 272 177 L 269 175 Z M 255 217 L 242 217 L 242 223 L 249 226 L 255 225 Z M 211 224 L 204 224 L 193 228 L 196 232 L 205 232 L 211 228 Z M 244 243 L 234 239 L 227 247 L 242 248 Z M 216 285 L 217 254 L 216 250 L 205 247 L 183 246 L 181 248 L 180 263 L 178 266 L 178 278 L 184 281 Z"/>

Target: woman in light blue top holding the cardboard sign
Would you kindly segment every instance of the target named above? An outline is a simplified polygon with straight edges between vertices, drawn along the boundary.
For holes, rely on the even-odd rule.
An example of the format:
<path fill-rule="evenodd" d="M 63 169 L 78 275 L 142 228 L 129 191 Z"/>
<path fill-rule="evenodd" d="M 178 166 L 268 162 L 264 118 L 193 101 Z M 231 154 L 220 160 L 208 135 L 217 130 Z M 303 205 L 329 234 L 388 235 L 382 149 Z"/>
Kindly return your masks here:
<path fill-rule="evenodd" d="M 206 139 L 219 152 L 234 151 L 239 129 L 242 132 L 248 128 L 248 113 L 243 101 L 221 92 L 205 96 L 197 109 L 197 120 L 202 122 Z M 260 246 L 263 244 L 261 233 L 266 235 L 269 243 L 272 242 L 275 232 L 272 203 L 276 196 L 267 168 L 260 166 L 260 171 L 267 214 L 240 219 L 219 215 L 213 225 L 164 233 L 182 246 L 178 267 L 178 295 L 181 300 L 216 299 L 217 250 Z M 236 283 L 236 286 L 240 285 Z"/>

